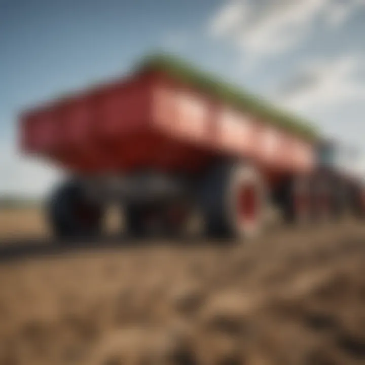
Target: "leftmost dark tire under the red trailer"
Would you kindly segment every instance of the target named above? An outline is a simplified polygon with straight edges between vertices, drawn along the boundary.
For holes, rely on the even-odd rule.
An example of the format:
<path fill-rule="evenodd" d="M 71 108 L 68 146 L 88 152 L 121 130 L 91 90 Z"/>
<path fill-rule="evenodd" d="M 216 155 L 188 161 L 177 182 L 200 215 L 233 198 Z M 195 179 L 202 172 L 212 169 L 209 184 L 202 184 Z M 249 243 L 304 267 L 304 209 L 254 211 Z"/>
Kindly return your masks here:
<path fill-rule="evenodd" d="M 76 181 L 61 184 L 51 195 L 48 217 L 56 238 L 95 238 L 101 233 L 102 209 L 83 194 Z"/>

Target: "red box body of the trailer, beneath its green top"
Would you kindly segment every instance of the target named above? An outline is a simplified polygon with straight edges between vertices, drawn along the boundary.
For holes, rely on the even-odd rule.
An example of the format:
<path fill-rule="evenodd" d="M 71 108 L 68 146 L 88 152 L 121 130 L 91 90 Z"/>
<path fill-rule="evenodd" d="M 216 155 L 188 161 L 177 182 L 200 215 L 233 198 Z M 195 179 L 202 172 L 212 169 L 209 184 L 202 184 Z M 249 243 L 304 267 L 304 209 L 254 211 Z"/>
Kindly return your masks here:
<path fill-rule="evenodd" d="M 22 151 L 78 174 L 194 173 L 217 155 L 249 159 L 276 177 L 315 165 L 308 140 L 159 71 L 32 109 L 21 123 Z"/>

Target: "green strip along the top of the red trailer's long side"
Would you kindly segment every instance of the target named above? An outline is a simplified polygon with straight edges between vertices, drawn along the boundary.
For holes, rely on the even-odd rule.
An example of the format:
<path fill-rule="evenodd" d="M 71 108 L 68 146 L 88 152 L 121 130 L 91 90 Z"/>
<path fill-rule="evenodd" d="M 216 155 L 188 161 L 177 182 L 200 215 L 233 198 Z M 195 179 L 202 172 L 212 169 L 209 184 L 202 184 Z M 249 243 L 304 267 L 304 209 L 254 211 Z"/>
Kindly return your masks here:
<path fill-rule="evenodd" d="M 152 54 L 137 63 L 137 71 L 157 70 L 191 85 L 217 99 L 245 112 L 252 113 L 264 122 L 280 127 L 311 142 L 320 139 L 317 129 L 307 121 L 276 108 L 262 98 L 224 82 L 205 71 L 169 54 Z"/>

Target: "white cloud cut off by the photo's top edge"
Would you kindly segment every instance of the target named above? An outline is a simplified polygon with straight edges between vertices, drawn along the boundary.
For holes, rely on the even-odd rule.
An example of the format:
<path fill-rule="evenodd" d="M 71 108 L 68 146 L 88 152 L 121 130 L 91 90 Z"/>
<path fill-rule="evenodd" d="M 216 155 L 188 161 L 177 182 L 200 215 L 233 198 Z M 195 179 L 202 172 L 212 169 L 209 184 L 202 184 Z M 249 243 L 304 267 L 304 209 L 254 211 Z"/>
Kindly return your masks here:
<path fill-rule="evenodd" d="M 226 39 L 245 57 L 281 53 L 300 44 L 316 20 L 339 26 L 364 0 L 234 0 L 214 14 L 208 24 L 212 36 Z"/>

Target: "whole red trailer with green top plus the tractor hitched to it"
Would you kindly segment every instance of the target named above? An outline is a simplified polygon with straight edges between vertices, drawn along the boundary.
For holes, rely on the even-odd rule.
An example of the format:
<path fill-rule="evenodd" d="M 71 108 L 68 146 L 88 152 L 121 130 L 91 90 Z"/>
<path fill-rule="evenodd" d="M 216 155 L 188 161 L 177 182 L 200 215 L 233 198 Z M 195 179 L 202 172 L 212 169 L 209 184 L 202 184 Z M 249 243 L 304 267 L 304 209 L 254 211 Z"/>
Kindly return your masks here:
<path fill-rule="evenodd" d="M 21 115 L 21 149 L 70 178 L 48 215 L 61 238 L 100 234 L 117 204 L 132 236 L 201 232 L 241 238 L 275 206 L 294 224 L 362 215 L 360 182 L 334 163 L 336 147 L 306 123 L 171 56 L 127 78 Z"/>

